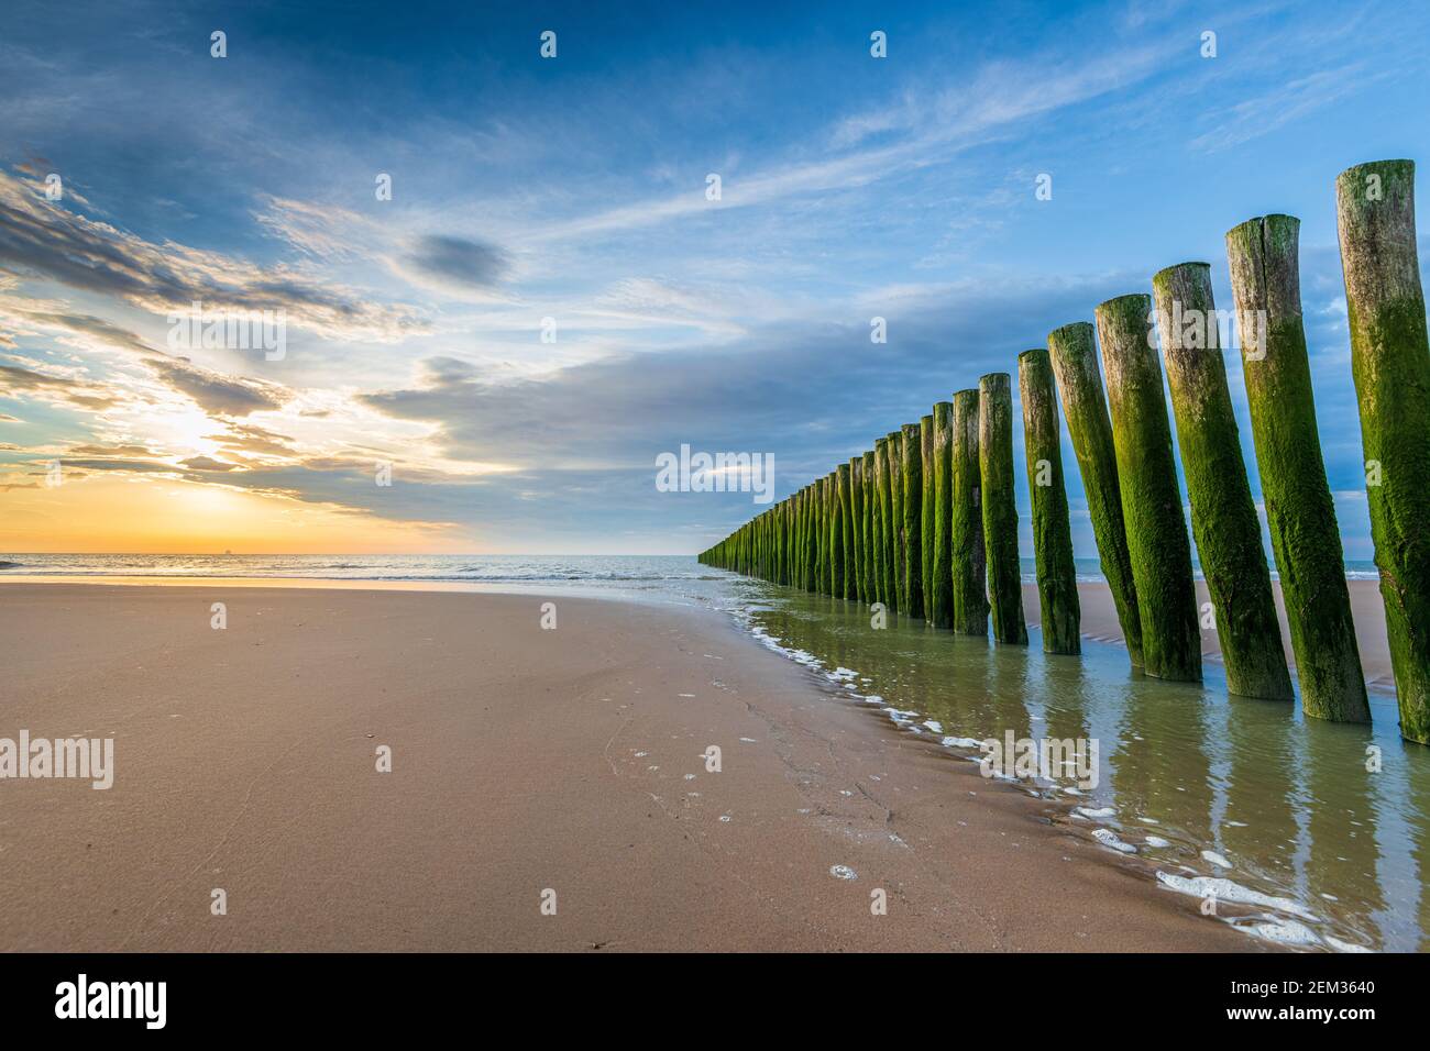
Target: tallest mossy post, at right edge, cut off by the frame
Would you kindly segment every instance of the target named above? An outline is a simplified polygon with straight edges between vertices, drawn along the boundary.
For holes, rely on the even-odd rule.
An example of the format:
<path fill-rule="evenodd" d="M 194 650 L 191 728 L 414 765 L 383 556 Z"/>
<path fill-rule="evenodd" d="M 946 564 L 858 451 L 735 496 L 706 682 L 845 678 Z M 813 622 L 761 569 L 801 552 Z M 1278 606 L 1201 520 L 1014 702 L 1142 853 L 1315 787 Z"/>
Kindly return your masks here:
<path fill-rule="evenodd" d="M 1336 217 L 1400 735 L 1430 744 L 1430 343 L 1414 184 L 1410 160 L 1350 167 Z"/>

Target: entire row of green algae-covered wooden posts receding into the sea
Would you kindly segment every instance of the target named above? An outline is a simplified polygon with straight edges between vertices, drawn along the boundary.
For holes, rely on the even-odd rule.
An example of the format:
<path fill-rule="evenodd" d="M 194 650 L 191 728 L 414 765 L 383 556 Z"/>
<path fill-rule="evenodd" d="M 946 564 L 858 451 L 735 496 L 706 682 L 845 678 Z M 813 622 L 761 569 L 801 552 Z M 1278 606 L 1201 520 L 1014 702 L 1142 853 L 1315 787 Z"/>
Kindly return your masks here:
<path fill-rule="evenodd" d="M 1416 253 L 1414 163 L 1347 169 L 1336 193 L 1366 493 L 1400 728 L 1404 738 L 1430 744 L 1430 345 Z M 1271 214 L 1227 235 L 1243 372 L 1303 706 L 1323 719 L 1367 722 L 1301 323 L 1298 230 L 1297 219 Z M 1168 267 L 1153 279 L 1153 296 L 1110 299 L 1097 307 L 1095 320 L 1095 330 L 1075 322 L 1048 333 L 1047 349 L 1018 356 L 1042 648 L 1080 652 L 1061 402 L 1133 665 L 1154 678 L 1201 679 L 1170 389 L 1227 686 L 1241 696 L 1293 699 L 1210 266 Z M 918 423 L 875 439 L 874 449 L 769 508 L 699 559 L 794 588 L 879 602 L 967 635 L 987 636 L 991 621 L 997 642 L 1025 645 L 1011 376 L 990 373 L 952 402 L 935 403 Z"/>

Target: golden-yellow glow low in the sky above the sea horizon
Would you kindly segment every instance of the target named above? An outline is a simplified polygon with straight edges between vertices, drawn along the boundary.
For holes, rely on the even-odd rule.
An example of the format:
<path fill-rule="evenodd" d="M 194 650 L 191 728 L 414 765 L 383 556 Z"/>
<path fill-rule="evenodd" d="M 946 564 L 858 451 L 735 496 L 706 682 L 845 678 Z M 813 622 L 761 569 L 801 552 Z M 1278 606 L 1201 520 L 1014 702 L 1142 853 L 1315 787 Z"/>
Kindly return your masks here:
<path fill-rule="evenodd" d="M 393 522 L 282 493 L 169 478 L 86 475 L 0 496 L 10 552 L 430 553 L 469 551 L 468 529 Z"/>

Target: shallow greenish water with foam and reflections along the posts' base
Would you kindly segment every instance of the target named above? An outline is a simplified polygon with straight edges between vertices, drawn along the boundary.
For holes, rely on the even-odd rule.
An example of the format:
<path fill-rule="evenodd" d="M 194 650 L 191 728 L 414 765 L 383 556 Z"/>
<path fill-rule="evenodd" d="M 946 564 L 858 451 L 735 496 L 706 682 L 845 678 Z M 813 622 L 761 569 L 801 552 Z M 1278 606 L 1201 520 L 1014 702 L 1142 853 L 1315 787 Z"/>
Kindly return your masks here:
<path fill-rule="evenodd" d="M 1097 742 L 1095 786 L 1080 789 L 1071 768 L 1017 784 L 1110 862 L 1204 912 L 1214 892 L 1217 918 L 1250 937 L 1430 948 L 1430 749 L 1400 739 L 1393 698 L 1371 699 L 1369 728 L 1324 724 L 1228 696 L 1210 662 L 1204 685 L 1168 684 L 1115 645 L 1054 656 L 1035 628 L 1028 648 L 997 646 L 908 618 L 874 629 L 861 605 L 788 588 L 736 591 L 739 619 L 766 645 L 957 754 L 982 759 L 977 742 L 1010 731 Z"/>

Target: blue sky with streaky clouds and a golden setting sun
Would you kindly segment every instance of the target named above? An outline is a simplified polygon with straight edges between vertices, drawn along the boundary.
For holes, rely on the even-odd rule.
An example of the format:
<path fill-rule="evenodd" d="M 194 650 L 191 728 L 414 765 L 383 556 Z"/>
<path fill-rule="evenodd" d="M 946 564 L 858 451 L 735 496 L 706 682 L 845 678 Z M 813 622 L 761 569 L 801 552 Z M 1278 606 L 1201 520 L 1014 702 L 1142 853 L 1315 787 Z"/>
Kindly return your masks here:
<path fill-rule="evenodd" d="M 1371 555 L 1334 179 L 1430 156 L 1423 4 L 109 0 L 4 30 L 0 552 L 695 553 L 764 506 L 662 492 L 662 453 L 774 456 L 782 499 L 1164 266 L 1230 307 L 1226 232 L 1286 212 Z M 176 343 L 193 303 L 270 312 L 282 353 Z M 1027 555 L 1027 478 L 1018 505 Z"/>

